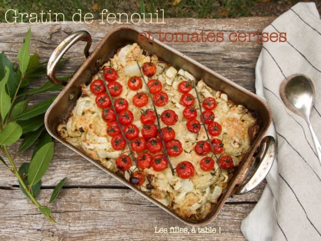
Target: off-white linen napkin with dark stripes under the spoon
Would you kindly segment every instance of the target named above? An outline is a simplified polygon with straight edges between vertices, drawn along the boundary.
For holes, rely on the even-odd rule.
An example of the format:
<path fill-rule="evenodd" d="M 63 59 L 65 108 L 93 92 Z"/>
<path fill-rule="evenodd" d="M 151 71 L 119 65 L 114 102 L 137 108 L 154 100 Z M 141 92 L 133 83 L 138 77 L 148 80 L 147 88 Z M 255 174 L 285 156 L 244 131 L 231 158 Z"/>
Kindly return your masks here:
<path fill-rule="evenodd" d="M 306 122 L 279 94 L 286 77 L 310 77 L 317 92 L 311 122 L 321 140 L 321 20 L 315 3 L 297 3 L 263 32 L 286 33 L 285 42 L 263 43 L 255 69 L 257 94 L 272 109 L 278 156 L 241 231 L 249 241 L 320 241 L 321 166 Z"/>

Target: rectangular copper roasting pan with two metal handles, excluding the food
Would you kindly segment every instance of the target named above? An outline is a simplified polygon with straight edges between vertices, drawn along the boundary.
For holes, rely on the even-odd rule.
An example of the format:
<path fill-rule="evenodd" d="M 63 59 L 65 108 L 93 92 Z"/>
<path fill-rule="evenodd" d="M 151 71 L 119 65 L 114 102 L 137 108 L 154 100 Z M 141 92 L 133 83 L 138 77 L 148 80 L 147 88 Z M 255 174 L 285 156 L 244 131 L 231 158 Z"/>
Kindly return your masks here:
<path fill-rule="evenodd" d="M 149 201 L 155 203 L 177 219 L 188 225 L 205 225 L 211 222 L 217 216 L 224 202 L 229 196 L 232 194 L 244 194 L 250 191 L 251 189 L 255 188 L 269 172 L 276 155 L 275 140 L 272 136 L 267 136 L 266 134 L 267 129 L 272 122 L 271 111 L 268 104 L 257 95 L 244 89 L 231 80 L 228 80 L 215 73 L 197 61 L 187 57 L 183 53 L 180 53 L 179 51 L 167 46 L 161 41 L 156 39 L 154 39 L 153 42 L 139 41 L 139 33 L 139 31 L 128 25 L 117 27 L 100 41 L 90 55 L 88 50 L 91 44 L 91 37 L 87 32 L 79 31 L 63 40 L 54 50 L 48 61 L 47 76 L 49 80 L 54 83 L 60 82 L 55 78 L 56 66 L 64 53 L 78 40 L 87 41 L 87 45 L 84 50 L 87 58 L 47 110 L 45 114 L 45 127 L 50 135 L 55 139 L 81 155 L 83 158 L 92 162 L 94 165 L 103 169 L 124 185 L 144 196 Z M 182 68 L 189 71 L 196 77 L 197 80 L 204 79 L 210 87 L 227 93 L 230 99 L 256 112 L 260 119 L 259 132 L 256 135 L 250 150 L 248 151 L 244 160 L 241 162 L 240 166 L 235 169 L 233 178 L 230 180 L 227 189 L 223 192 L 218 200 L 217 205 L 212 210 L 210 215 L 208 215 L 204 220 L 190 221 L 179 217 L 160 202 L 146 195 L 138 188 L 128 183 L 125 179 L 111 172 L 97 161 L 94 161 L 71 144 L 65 142 L 56 132 L 58 123 L 61 123 L 66 119 L 72 108 L 75 106 L 78 97 L 80 96 L 80 83 L 87 84 L 91 80 L 91 76 L 98 71 L 98 67 L 107 61 L 108 58 L 112 57 L 117 49 L 133 42 L 137 42 L 143 49 L 149 51 L 150 53 L 155 53 L 176 69 Z"/>

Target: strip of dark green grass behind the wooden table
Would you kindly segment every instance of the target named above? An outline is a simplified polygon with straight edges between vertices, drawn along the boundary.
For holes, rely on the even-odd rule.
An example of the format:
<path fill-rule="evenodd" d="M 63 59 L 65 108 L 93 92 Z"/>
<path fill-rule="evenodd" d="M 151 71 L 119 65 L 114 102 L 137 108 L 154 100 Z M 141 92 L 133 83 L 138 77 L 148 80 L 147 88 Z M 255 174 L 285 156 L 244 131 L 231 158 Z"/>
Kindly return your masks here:
<path fill-rule="evenodd" d="M 0 22 L 5 22 L 5 12 L 17 9 L 17 13 L 32 13 L 40 15 L 51 10 L 51 13 L 63 13 L 65 21 L 71 20 L 73 13 L 81 9 L 82 14 L 91 12 L 99 19 L 102 9 L 108 12 L 131 14 L 134 12 L 154 13 L 164 9 L 166 18 L 236 18 L 249 16 L 278 16 L 298 0 L 46 0 L 33 2 L 29 0 L 0 0 Z M 314 1 L 319 12 L 321 0 Z M 11 15 L 12 16 L 12 15 Z M 10 17 L 10 15 L 7 15 Z M 60 17 L 58 20 L 63 20 Z M 12 20 L 10 20 L 12 21 Z M 21 18 L 17 19 L 21 22 Z M 23 18 L 23 21 L 29 21 Z"/>

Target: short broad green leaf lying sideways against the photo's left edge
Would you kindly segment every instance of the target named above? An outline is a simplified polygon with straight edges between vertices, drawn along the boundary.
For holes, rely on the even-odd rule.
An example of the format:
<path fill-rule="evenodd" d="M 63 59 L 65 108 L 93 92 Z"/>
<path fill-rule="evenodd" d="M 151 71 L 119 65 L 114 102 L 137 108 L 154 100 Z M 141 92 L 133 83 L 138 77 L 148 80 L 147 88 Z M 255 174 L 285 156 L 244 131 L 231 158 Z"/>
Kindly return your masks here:
<path fill-rule="evenodd" d="M 19 140 L 22 135 L 22 128 L 15 122 L 9 122 L 0 130 L 0 146 L 10 145 Z"/>

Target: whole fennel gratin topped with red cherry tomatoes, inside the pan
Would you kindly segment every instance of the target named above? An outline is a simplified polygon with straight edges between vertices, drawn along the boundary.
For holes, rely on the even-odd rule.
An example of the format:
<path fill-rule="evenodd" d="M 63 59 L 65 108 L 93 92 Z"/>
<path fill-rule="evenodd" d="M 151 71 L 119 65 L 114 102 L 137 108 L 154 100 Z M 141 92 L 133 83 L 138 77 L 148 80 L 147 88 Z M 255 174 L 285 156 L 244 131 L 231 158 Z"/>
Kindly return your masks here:
<path fill-rule="evenodd" d="M 259 126 L 227 94 L 136 43 L 81 88 L 59 135 L 186 220 L 213 210 Z"/>

